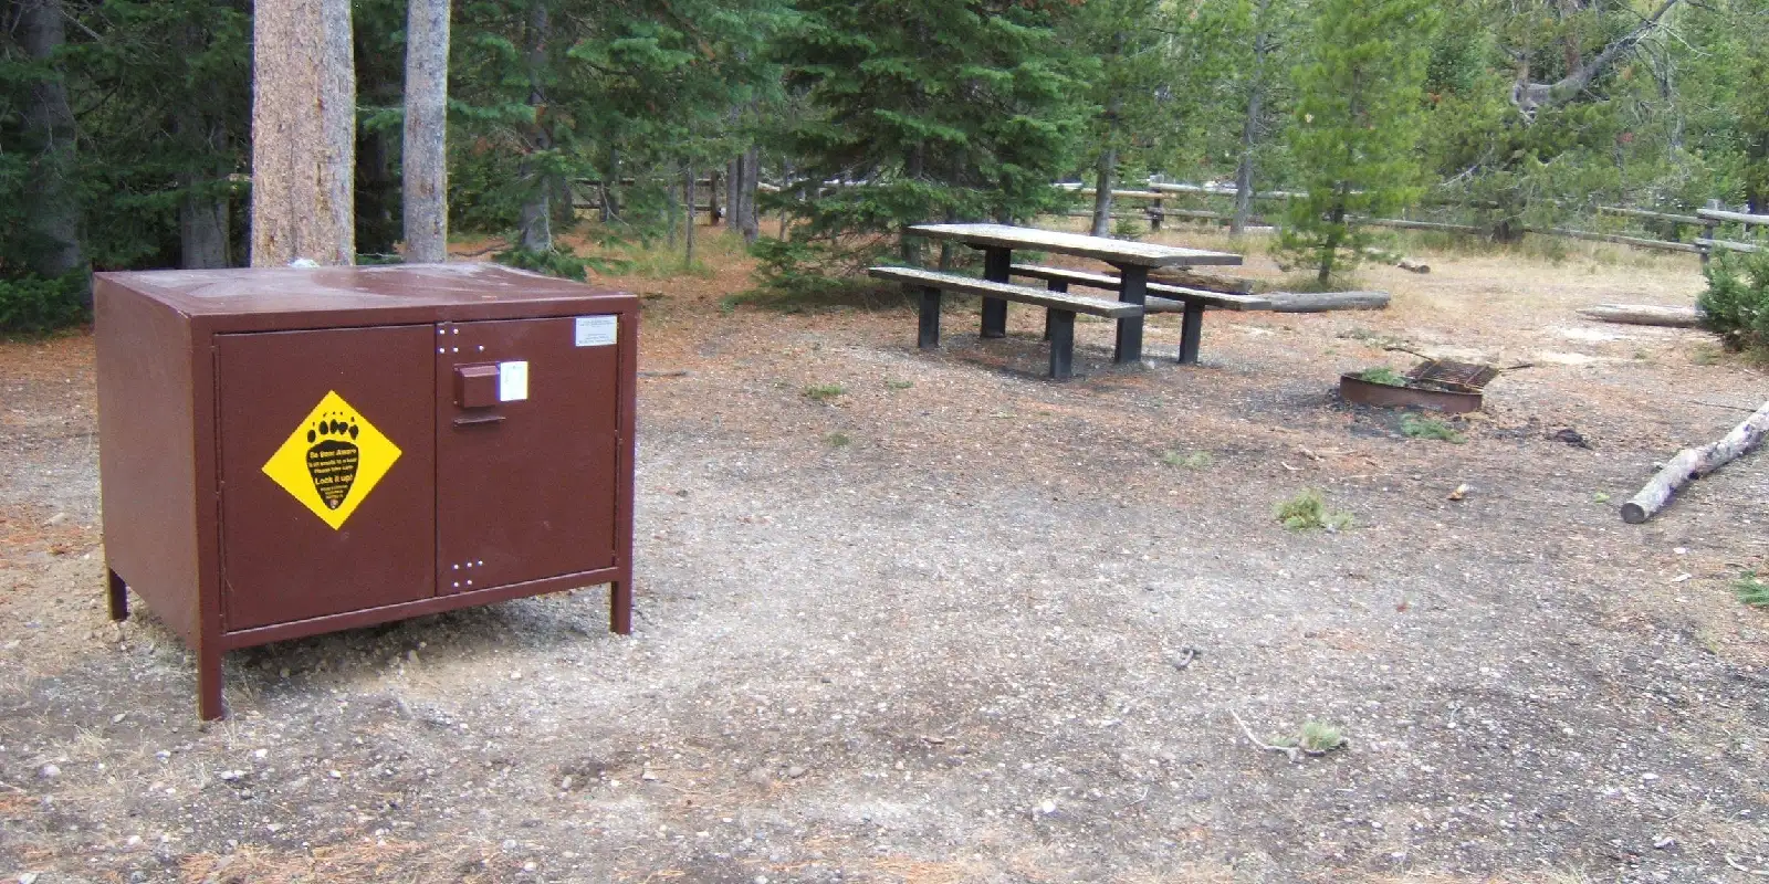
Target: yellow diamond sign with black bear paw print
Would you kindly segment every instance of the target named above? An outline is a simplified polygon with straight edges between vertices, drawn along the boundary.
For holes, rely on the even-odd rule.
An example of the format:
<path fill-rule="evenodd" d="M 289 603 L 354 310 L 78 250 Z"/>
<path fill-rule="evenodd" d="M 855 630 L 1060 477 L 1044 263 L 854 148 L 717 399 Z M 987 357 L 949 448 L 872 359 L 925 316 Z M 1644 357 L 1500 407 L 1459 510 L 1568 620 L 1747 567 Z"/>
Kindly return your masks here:
<path fill-rule="evenodd" d="M 400 446 L 327 392 L 264 463 L 264 474 L 334 530 L 400 460 Z"/>

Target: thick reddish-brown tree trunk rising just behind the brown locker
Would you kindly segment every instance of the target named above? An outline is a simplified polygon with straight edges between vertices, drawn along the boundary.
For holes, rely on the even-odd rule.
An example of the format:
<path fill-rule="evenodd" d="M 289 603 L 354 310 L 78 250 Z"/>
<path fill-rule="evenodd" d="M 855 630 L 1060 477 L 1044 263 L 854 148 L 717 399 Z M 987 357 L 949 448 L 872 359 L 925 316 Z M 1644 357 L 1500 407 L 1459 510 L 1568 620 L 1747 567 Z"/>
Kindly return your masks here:
<path fill-rule="evenodd" d="M 350 0 L 258 4 L 251 30 L 251 263 L 354 263 Z"/>

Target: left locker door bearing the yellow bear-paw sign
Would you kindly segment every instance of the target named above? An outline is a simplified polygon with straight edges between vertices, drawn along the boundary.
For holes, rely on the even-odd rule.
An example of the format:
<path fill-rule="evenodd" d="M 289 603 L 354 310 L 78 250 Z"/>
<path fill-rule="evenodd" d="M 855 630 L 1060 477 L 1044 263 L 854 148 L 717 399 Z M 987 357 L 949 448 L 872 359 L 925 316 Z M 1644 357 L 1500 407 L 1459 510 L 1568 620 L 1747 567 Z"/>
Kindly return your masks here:
<path fill-rule="evenodd" d="M 435 594 L 432 338 L 216 336 L 230 631 Z"/>

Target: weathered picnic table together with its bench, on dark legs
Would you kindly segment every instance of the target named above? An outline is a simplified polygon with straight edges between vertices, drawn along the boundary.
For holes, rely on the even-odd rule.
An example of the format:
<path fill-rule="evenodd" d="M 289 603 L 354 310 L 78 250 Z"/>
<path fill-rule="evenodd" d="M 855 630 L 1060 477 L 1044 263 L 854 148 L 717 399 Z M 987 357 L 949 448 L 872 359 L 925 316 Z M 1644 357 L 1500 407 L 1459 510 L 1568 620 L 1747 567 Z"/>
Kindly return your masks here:
<path fill-rule="evenodd" d="M 907 233 L 962 242 L 984 253 L 984 279 L 980 281 L 968 276 L 909 267 L 870 269 L 870 274 L 879 279 L 895 279 L 920 288 L 920 347 L 923 350 L 939 347 L 939 292 L 964 292 L 984 299 L 984 338 L 1001 338 L 1007 334 L 1008 301 L 1040 306 L 1047 311 L 1045 336 L 1051 339 L 1053 378 L 1070 377 L 1076 313 L 1116 320 L 1118 334 L 1113 361 L 1120 364 L 1139 362 L 1143 359 L 1143 315 L 1148 311 L 1148 271 L 1152 267 L 1240 263 L 1240 255 L 1222 251 L 1183 249 L 1178 246 L 1129 242 L 1012 225 L 916 225 Z M 1072 295 L 1065 286 L 1040 290 L 1014 285 L 1008 281 L 1012 276 L 1014 249 L 1037 249 L 1106 262 L 1118 271 L 1114 278 L 1118 285 L 1113 288 L 1118 299 Z M 1171 309 L 1171 301 L 1176 299 L 1169 297 L 1169 304 L 1157 302 L 1155 308 L 1162 309 L 1166 306 Z"/>

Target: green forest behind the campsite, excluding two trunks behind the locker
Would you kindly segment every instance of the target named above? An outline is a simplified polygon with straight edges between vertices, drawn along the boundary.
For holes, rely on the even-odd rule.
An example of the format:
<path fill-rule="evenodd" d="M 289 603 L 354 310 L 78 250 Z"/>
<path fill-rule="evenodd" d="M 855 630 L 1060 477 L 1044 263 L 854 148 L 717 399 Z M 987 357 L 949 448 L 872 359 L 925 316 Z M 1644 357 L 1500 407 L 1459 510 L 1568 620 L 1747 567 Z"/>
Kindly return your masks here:
<path fill-rule="evenodd" d="M 348 5 L 354 253 L 400 260 L 407 4 L 302 2 Z M 1769 212 L 1769 0 L 414 2 L 453 25 L 448 228 L 570 276 L 557 233 L 674 242 L 709 171 L 773 286 L 1058 180 L 1097 233 L 1150 175 L 1222 182 L 1237 228 L 1302 191 L 1265 207 L 1323 281 L 1360 216 Z M 249 262 L 251 37 L 248 0 L 0 0 L 0 331 L 80 322 L 92 271 Z"/>

